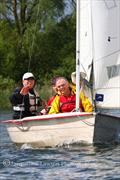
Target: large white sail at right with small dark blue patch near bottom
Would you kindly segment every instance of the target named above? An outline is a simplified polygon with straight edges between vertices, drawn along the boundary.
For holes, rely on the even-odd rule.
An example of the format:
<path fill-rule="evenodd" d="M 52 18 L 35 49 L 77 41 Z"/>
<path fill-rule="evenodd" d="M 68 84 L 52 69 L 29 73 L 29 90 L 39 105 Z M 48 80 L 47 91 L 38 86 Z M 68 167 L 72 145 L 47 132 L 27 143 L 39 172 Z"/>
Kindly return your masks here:
<path fill-rule="evenodd" d="M 96 105 L 120 109 L 120 0 L 91 3 Z"/>

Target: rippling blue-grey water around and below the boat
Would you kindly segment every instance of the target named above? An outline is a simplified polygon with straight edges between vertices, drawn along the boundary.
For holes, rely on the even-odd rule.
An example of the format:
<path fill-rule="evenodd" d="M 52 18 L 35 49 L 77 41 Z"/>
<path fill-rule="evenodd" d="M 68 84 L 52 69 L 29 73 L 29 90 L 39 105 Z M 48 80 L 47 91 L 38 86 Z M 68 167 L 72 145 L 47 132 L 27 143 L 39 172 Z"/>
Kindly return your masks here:
<path fill-rule="evenodd" d="M 1 113 L 0 120 L 11 119 Z M 0 125 L 1 180 L 113 180 L 120 179 L 120 145 L 74 145 L 54 149 L 16 147 Z"/>

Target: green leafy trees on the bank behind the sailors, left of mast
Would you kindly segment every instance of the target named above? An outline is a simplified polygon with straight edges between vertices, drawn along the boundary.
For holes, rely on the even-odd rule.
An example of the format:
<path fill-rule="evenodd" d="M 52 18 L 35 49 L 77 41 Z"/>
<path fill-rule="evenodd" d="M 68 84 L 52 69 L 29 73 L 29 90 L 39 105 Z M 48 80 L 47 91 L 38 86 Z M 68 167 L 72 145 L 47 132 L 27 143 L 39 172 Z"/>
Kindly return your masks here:
<path fill-rule="evenodd" d="M 54 76 L 70 80 L 75 37 L 74 0 L 1 0 L 0 108 L 27 71 L 33 72 L 40 88 Z"/>

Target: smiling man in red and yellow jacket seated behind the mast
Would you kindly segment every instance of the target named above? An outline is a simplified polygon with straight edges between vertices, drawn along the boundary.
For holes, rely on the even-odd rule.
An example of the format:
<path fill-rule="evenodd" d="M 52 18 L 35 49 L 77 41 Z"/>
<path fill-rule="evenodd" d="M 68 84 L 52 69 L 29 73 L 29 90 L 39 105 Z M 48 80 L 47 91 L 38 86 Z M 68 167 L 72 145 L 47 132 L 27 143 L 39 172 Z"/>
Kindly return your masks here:
<path fill-rule="evenodd" d="M 55 82 L 56 90 L 59 94 L 54 98 L 49 114 L 71 112 L 75 110 L 76 94 L 75 90 L 70 87 L 69 82 L 64 77 L 59 77 Z M 90 100 L 80 92 L 80 111 L 92 112 L 93 107 Z"/>

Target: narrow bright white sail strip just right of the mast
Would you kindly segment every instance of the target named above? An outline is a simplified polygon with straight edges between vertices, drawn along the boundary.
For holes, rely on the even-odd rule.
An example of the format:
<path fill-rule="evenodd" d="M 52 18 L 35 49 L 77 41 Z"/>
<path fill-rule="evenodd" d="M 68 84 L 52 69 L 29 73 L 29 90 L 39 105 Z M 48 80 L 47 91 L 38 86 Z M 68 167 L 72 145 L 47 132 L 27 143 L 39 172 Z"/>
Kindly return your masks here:
<path fill-rule="evenodd" d="M 89 81 L 92 68 L 91 0 L 80 1 L 80 72 Z"/>

